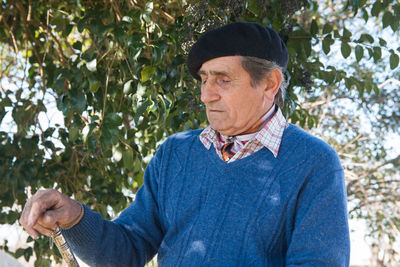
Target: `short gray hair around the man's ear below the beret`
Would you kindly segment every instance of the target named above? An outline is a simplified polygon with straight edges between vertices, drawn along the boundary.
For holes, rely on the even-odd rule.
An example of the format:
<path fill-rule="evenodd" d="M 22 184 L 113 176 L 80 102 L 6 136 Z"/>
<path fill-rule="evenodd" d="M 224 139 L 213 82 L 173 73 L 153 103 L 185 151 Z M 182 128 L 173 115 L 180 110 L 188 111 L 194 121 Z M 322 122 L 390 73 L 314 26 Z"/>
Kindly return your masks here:
<path fill-rule="evenodd" d="M 242 56 L 242 67 L 250 74 L 251 86 L 256 87 L 258 83 L 265 78 L 268 73 L 274 69 L 278 69 L 282 75 L 282 83 L 278 93 L 275 96 L 274 103 L 282 108 L 285 99 L 287 83 L 283 75 L 282 67 L 275 62 L 268 61 L 257 57 Z"/>

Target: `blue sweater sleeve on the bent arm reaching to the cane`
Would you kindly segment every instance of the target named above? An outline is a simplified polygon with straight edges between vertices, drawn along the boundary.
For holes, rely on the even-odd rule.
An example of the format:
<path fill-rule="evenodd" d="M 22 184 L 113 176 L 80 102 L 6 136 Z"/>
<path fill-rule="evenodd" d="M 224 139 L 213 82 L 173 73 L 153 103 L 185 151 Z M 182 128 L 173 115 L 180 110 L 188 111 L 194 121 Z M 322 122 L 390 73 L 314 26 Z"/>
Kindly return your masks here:
<path fill-rule="evenodd" d="M 71 249 L 90 266 L 144 266 L 163 238 L 157 205 L 156 156 L 150 161 L 135 201 L 114 221 L 85 206 L 83 219 L 63 230 Z"/>

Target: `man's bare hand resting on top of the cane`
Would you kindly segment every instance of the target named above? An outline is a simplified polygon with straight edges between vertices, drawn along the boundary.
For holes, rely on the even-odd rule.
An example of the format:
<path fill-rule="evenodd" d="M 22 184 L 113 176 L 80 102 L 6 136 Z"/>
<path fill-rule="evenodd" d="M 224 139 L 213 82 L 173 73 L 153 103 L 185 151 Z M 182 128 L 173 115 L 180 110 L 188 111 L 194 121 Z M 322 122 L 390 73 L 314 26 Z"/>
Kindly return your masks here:
<path fill-rule="evenodd" d="M 36 239 L 38 232 L 50 236 L 57 226 L 70 225 L 81 210 L 78 202 L 57 190 L 39 190 L 26 203 L 19 222 Z"/>

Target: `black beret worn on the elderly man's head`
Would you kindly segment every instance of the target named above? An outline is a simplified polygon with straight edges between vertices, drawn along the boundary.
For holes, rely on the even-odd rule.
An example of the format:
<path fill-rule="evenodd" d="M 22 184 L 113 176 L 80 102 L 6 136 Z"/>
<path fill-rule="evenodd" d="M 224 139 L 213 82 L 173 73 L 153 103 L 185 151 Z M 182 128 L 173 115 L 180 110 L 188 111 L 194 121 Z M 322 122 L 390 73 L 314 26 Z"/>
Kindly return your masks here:
<path fill-rule="evenodd" d="M 192 46 L 187 65 L 200 80 L 204 62 L 225 56 L 251 56 L 273 61 L 286 70 L 289 60 L 285 43 L 271 28 L 253 22 L 234 22 L 208 31 Z"/>

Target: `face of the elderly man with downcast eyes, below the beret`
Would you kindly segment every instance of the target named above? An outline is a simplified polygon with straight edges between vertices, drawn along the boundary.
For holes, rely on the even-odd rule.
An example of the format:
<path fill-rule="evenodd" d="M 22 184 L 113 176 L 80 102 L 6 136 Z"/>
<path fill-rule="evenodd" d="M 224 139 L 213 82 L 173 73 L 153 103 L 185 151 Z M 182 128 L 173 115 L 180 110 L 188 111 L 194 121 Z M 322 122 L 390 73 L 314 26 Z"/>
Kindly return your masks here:
<path fill-rule="evenodd" d="M 252 87 L 240 56 L 214 58 L 200 68 L 201 101 L 211 127 L 223 135 L 247 131 L 272 106 L 266 82 Z M 272 100 L 272 101 L 271 101 Z"/>

